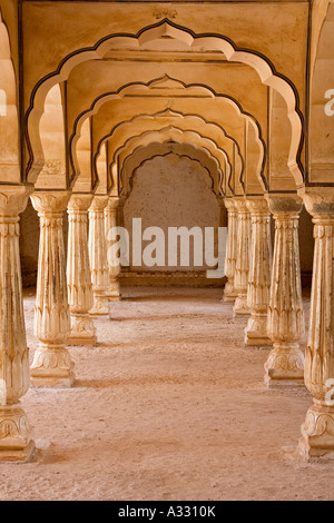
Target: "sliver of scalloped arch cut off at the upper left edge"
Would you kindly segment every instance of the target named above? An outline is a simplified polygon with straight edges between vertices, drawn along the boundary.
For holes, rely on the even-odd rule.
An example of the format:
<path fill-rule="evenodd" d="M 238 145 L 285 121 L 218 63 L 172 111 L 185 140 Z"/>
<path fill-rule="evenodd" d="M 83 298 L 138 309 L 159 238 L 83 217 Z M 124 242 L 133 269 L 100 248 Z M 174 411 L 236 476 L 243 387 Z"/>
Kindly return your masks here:
<path fill-rule="evenodd" d="M 10 40 L 0 10 L 0 181 L 21 181 L 19 154 L 19 117 L 17 80 L 11 59 Z"/>

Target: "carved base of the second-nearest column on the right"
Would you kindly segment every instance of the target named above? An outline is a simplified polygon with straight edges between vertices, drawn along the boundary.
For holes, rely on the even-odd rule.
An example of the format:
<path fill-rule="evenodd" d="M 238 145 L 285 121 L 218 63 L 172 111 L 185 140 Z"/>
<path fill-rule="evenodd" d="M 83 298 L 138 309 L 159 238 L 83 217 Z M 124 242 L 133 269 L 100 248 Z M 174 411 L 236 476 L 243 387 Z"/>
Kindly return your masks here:
<path fill-rule="evenodd" d="M 264 366 L 267 387 L 304 385 L 304 354 L 297 343 L 274 343 Z"/>

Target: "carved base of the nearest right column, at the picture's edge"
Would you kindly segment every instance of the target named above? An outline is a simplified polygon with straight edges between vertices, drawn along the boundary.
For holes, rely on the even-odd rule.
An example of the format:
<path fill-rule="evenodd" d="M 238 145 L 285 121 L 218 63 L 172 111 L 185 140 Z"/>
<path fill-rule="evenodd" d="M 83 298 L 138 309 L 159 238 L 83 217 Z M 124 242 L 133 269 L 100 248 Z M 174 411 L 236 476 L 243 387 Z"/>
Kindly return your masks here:
<path fill-rule="evenodd" d="M 334 457 L 334 406 L 314 399 L 302 425 L 298 451 L 306 460 L 328 453 Z"/>

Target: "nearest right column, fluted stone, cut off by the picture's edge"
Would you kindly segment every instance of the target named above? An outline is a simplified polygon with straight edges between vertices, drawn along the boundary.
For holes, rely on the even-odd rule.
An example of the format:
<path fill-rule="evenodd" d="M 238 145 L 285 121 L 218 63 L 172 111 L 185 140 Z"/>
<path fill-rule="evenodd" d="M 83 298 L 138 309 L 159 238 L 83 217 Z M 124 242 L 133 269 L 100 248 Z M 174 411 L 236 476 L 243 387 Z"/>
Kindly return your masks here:
<path fill-rule="evenodd" d="M 334 190 L 308 188 L 304 203 L 315 238 L 305 354 L 305 385 L 313 405 L 302 425 L 299 451 L 312 458 L 334 452 Z"/>

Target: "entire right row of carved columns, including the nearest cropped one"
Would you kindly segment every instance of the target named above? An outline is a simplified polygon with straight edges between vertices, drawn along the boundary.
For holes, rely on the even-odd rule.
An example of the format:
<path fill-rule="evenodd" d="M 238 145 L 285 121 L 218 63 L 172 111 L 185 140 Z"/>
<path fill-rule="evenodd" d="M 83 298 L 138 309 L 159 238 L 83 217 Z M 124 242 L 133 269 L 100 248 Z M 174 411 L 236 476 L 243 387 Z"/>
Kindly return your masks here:
<path fill-rule="evenodd" d="M 311 458 L 334 451 L 334 193 L 315 188 L 301 196 L 226 200 L 224 300 L 235 300 L 235 317 L 250 315 L 247 345 L 273 345 L 264 365 L 265 383 L 305 384 L 313 394 L 298 444 L 299 452 Z M 299 348 L 304 334 L 298 246 L 303 201 L 313 217 L 315 238 L 305 364 Z M 275 220 L 273 260 L 271 214 Z"/>

